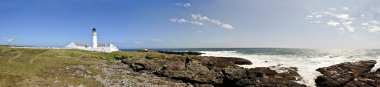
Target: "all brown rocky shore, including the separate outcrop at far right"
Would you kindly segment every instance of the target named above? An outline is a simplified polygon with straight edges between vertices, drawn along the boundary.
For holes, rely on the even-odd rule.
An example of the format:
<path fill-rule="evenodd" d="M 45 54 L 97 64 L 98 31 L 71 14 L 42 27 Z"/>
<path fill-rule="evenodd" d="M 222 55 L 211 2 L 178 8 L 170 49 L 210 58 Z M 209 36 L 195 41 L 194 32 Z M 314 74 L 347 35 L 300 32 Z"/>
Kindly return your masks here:
<path fill-rule="evenodd" d="M 134 72 L 146 73 L 188 84 L 189 87 L 306 87 L 295 67 L 243 68 L 252 64 L 242 58 L 206 57 L 171 54 L 165 57 L 123 57 L 118 59 Z M 317 69 L 322 75 L 315 80 L 317 87 L 379 87 L 380 69 L 370 72 L 376 61 L 345 62 Z M 183 84 L 181 86 L 184 86 Z"/>

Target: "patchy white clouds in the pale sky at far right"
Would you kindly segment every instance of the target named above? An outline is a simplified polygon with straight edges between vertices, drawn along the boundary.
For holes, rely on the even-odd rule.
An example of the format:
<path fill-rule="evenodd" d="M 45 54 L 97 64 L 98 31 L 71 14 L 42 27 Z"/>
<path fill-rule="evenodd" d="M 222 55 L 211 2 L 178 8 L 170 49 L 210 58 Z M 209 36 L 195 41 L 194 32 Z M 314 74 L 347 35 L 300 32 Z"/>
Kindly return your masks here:
<path fill-rule="evenodd" d="M 380 22 L 374 18 L 367 18 L 365 14 L 355 15 L 354 10 L 345 6 L 312 12 L 306 16 L 306 19 L 313 24 L 325 23 L 328 27 L 351 33 L 358 29 L 364 29 L 370 33 L 380 32 Z"/>

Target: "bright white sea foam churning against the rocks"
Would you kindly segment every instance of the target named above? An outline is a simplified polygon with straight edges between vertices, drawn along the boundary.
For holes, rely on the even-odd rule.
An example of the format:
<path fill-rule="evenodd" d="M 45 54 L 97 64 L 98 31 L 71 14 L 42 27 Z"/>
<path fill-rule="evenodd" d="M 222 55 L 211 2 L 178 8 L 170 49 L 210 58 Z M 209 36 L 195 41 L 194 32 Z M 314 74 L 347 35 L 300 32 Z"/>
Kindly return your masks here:
<path fill-rule="evenodd" d="M 252 62 L 252 65 L 241 65 L 245 68 L 254 67 L 297 67 L 298 73 L 301 75 L 302 79 L 298 83 L 305 84 L 309 87 L 315 87 L 314 80 L 321 73 L 317 72 L 316 69 L 322 67 L 328 67 L 334 64 L 339 64 L 343 62 L 354 62 L 358 60 L 376 60 L 380 61 L 379 56 L 356 56 L 365 55 L 367 52 L 356 51 L 356 50 L 323 50 L 329 54 L 329 56 L 316 56 L 308 57 L 305 56 L 294 56 L 294 55 L 255 55 L 255 54 L 241 54 L 237 51 L 199 51 L 203 54 L 202 56 L 218 56 L 218 57 L 239 57 L 245 58 Z M 380 64 L 376 64 L 372 71 L 380 67 Z M 278 72 L 276 68 L 272 68 Z"/>

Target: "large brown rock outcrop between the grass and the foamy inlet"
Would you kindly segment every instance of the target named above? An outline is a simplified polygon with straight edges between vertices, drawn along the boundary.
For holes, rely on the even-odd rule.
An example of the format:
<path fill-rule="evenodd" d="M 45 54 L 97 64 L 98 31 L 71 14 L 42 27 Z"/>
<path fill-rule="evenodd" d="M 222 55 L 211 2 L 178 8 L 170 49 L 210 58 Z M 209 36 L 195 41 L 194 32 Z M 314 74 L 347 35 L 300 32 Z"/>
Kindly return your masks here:
<path fill-rule="evenodd" d="M 181 80 L 195 87 L 292 86 L 300 78 L 296 68 L 276 72 L 269 67 L 245 69 L 236 65 L 240 59 L 223 59 L 191 55 L 171 55 L 164 58 L 118 58 L 137 72 Z M 232 61 L 229 61 L 232 60 Z M 241 63 L 241 61 L 240 61 Z M 248 64 L 248 63 L 247 63 Z M 251 64 L 249 62 L 249 64 Z"/>

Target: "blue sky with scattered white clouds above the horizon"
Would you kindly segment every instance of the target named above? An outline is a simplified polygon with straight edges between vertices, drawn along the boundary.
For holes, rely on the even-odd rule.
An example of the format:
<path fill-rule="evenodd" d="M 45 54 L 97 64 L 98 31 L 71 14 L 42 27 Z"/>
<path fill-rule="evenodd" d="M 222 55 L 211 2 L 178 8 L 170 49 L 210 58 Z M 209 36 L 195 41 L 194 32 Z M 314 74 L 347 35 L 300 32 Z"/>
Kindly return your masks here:
<path fill-rule="evenodd" d="M 379 0 L 0 0 L 0 44 L 380 49 Z"/>

